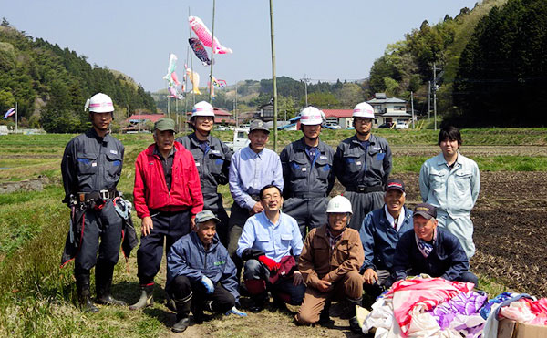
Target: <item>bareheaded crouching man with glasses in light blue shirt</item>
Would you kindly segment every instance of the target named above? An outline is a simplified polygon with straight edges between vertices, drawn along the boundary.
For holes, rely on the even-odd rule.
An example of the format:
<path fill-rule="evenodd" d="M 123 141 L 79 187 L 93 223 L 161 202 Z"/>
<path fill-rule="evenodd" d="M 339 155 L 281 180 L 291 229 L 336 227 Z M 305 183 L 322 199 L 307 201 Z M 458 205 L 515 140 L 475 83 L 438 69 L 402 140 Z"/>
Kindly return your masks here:
<path fill-rule="evenodd" d="M 272 292 L 282 309 L 300 305 L 305 285 L 296 261 L 302 251 L 298 223 L 280 211 L 282 192 L 275 185 L 260 190 L 263 211 L 250 217 L 238 241 L 237 255 L 245 261 L 243 279 L 253 300 L 252 312 L 263 310 Z"/>

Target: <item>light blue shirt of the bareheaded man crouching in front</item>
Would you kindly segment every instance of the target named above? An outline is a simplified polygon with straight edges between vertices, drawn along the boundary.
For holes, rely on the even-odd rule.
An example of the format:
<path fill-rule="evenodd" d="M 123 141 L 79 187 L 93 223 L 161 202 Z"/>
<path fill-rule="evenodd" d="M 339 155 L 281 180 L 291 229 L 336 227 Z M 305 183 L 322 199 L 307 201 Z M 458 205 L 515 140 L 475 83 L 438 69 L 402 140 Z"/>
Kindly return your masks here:
<path fill-rule="evenodd" d="M 281 211 L 275 224 L 266 217 L 265 211 L 250 217 L 237 244 L 236 253 L 240 257 L 245 249 L 256 249 L 277 262 L 284 256 L 299 256 L 304 246 L 298 223 Z"/>

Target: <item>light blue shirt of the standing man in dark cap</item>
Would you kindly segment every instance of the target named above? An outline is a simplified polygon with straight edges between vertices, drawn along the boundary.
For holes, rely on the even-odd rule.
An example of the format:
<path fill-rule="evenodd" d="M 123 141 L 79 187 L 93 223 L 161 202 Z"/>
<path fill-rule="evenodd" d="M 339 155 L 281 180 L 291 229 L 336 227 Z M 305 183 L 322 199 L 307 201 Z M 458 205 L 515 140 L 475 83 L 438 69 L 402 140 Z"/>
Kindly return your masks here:
<path fill-rule="evenodd" d="M 283 191 L 283 169 L 279 155 L 264 148 L 258 154 L 250 147 L 238 150 L 232 156 L 230 164 L 229 186 L 233 200 L 240 207 L 251 210 L 260 189 L 274 184 Z"/>

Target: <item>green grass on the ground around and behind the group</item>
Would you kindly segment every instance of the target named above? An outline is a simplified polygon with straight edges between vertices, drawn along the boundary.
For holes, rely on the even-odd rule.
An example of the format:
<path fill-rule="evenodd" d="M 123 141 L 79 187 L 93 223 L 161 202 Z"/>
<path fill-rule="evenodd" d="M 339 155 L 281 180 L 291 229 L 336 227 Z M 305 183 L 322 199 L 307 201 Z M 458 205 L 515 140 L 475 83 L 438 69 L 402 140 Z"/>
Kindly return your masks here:
<path fill-rule="evenodd" d="M 434 130 L 377 130 L 394 146 L 434 146 L 438 132 Z M 547 129 L 464 129 L 465 147 L 473 145 L 545 146 Z M 340 140 L 354 134 L 351 130 L 325 130 L 322 139 L 333 147 Z M 232 132 L 215 132 L 224 140 Z M 74 135 L 9 135 L 0 137 L 0 181 L 32 179 L 38 175 L 50 179 L 43 191 L 25 191 L 0 194 L 0 336 L 124 336 L 157 337 L 168 333 L 172 314 L 158 303 L 144 312 L 121 308 L 102 308 L 98 314 L 84 314 L 74 306 L 76 291 L 72 263 L 59 268 L 61 251 L 67 236 L 68 209 L 61 204 L 64 191 L 60 184 L 60 160 L 67 141 Z M 125 163 L 119 181 L 119 190 L 132 200 L 134 161 L 139 152 L 151 142 L 150 134 L 116 135 L 126 147 Z M 279 133 L 281 145 L 301 138 L 300 131 Z M 272 142 L 272 140 L 271 140 Z M 547 157 L 492 154 L 471 157 L 481 170 L 547 171 Z M 418 172 L 428 156 L 394 157 L 394 173 Z M 224 204 L 232 204 L 227 186 L 220 189 Z M 139 221 L 133 215 L 136 225 Z M 123 257 L 116 267 L 114 292 L 122 299 L 136 301 L 138 296 L 132 253 L 132 271 L 128 274 Z M 480 288 L 490 296 L 504 291 L 504 287 L 480 276 Z M 93 279 L 93 278 L 92 278 Z M 162 293 L 157 290 L 158 298 Z M 273 314 L 268 320 L 290 325 L 290 318 Z M 260 329 L 249 322 L 218 320 L 207 326 L 209 333 L 220 337 L 243 337 L 260 334 Z M 229 330 L 225 329 L 228 325 Z M 201 329 L 201 328 L 200 328 Z M 304 330 L 301 328 L 294 328 Z M 314 331 L 315 330 L 315 331 Z M 320 335 L 317 329 L 305 329 L 306 334 Z M 302 331 L 298 331 L 302 333 Z M 327 333 L 325 333 L 327 334 Z"/>

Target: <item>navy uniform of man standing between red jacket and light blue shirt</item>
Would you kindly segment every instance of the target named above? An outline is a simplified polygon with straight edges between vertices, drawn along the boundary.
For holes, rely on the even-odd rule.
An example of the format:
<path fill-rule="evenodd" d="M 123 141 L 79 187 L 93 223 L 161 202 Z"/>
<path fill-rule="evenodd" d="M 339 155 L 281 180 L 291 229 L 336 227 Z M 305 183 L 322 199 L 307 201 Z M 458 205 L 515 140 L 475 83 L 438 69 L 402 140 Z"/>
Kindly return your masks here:
<path fill-rule="evenodd" d="M 232 150 L 220 139 L 211 135 L 207 141 L 201 142 L 194 133 L 177 138 L 184 148 L 190 150 L 200 173 L 201 192 L 203 194 L 203 210 L 212 210 L 221 220 L 217 225 L 217 234 L 225 247 L 228 246 L 228 214 L 222 204 L 222 195 L 218 186 L 228 184 Z"/>

